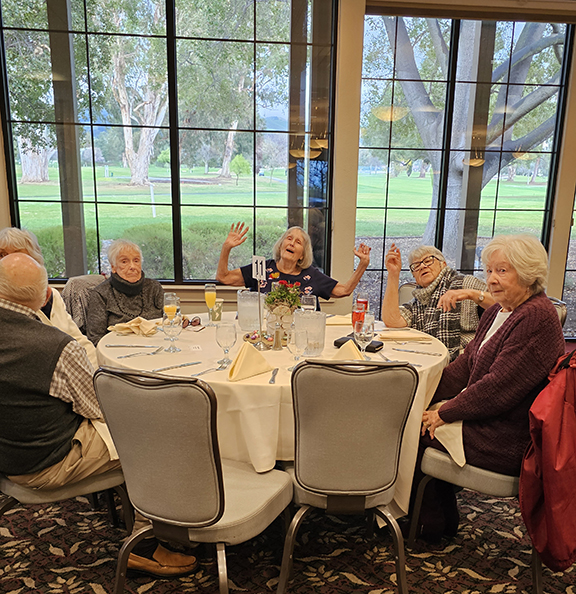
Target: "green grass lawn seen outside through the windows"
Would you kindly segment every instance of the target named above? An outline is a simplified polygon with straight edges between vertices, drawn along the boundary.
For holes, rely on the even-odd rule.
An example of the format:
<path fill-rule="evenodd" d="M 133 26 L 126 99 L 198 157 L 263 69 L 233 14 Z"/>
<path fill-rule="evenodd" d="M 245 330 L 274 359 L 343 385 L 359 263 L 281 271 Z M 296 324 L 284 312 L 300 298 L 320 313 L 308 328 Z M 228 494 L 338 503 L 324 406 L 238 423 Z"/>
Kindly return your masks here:
<path fill-rule="evenodd" d="M 171 183 L 169 170 L 150 167 L 152 192 L 149 187 L 129 185 L 129 171 L 110 167 L 112 177 L 104 177 L 104 168 L 85 167 L 83 175 L 84 213 L 87 228 L 100 225 L 102 237 L 118 237 L 123 230 L 136 225 L 171 223 Z M 259 223 L 277 223 L 285 212 L 270 207 L 285 207 L 287 179 L 277 170 L 272 179 L 251 176 L 221 181 L 216 172 L 205 174 L 202 168 L 182 172 L 181 201 L 183 225 L 192 223 L 230 223 L 252 219 L 257 208 Z M 546 185 L 527 185 L 517 176 L 514 182 L 490 182 L 482 192 L 479 234 L 533 231 L 539 233 L 545 203 Z M 94 200 L 96 193 L 98 204 Z M 60 189 L 58 169 L 50 168 L 50 181 L 18 187 L 22 225 L 31 230 L 60 226 Z M 117 204 L 120 203 L 120 204 Z M 358 180 L 357 235 L 363 237 L 420 236 L 424 232 L 432 204 L 430 178 L 407 177 L 402 174 L 387 179 L 380 173 L 361 173 Z M 496 210 L 495 210 L 496 207 Z M 387 208 L 387 210 L 386 210 Z"/>

